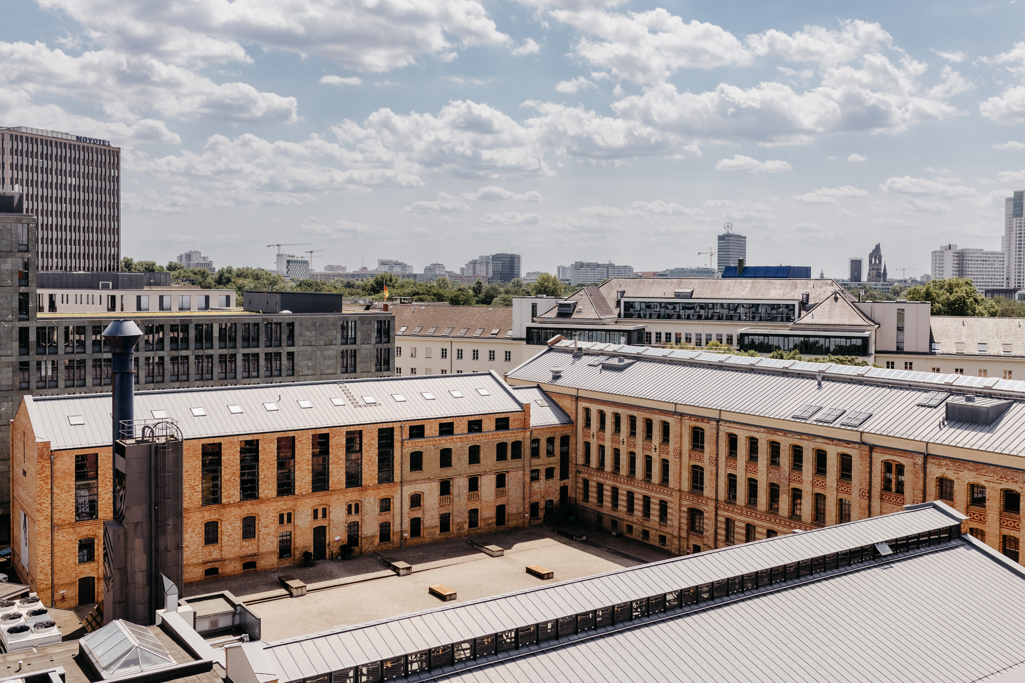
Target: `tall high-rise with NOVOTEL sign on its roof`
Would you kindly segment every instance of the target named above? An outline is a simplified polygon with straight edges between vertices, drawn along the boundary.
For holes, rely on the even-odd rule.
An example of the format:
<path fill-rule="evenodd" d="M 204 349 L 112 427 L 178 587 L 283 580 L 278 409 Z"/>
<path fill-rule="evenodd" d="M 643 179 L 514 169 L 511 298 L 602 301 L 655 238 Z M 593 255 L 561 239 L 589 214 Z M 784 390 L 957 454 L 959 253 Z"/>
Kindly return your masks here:
<path fill-rule="evenodd" d="M 39 219 L 39 270 L 118 271 L 121 150 L 110 140 L 0 126 L 0 190 Z"/>

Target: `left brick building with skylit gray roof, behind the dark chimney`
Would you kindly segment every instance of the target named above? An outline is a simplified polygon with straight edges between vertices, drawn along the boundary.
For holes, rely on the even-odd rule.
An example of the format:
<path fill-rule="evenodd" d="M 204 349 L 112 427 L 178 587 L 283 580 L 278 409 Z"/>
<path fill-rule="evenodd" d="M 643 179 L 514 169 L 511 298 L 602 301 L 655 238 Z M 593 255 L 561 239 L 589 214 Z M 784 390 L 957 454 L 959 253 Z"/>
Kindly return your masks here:
<path fill-rule="evenodd" d="M 44 601 L 102 592 L 110 409 L 30 396 L 12 424 L 12 564 Z M 182 435 L 186 581 L 524 526 L 569 496 L 569 416 L 494 373 L 142 392 L 135 416 Z"/>

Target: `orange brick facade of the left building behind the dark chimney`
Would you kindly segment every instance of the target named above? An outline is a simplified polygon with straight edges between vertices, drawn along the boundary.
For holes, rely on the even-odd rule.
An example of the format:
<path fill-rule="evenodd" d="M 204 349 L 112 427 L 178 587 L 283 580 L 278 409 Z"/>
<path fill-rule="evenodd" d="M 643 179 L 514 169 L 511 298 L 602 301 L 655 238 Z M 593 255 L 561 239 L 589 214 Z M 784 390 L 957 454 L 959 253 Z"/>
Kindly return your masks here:
<path fill-rule="evenodd" d="M 508 430 L 494 430 L 495 419 L 500 417 L 508 418 Z M 474 419 L 483 421 L 482 432 L 467 433 L 467 421 Z M 439 423 L 444 421 L 454 421 L 453 436 L 439 436 Z M 408 438 L 409 427 L 413 425 L 424 427 L 423 438 Z M 531 504 L 536 504 L 534 508 L 543 514 L 546 501 L 558 503 L 560 487 L 571 486 L 570 480 L 559 479 L 559 451 L 563 446 L 572 454 L 574 445 L 572 426 L 531 429 L 529 425 L 530 404 L 525 404 L 524 411 L 503 414 L 187 440 L 183 444 L 184 580 L 201 580 L 211 575 L 211 570 L 216 570 L 213 575 L 223 576 L 299 563 L 303 552 L 313 552 L 315 529 L 321 526 L 326 527 L 323 532 L 330 557 L 346 543 L 351 522 L 359 523 L 357 553 L 539 523 L 539 519 L 530 519 Z M 380 428 L 395 430 L 393 483 L 376 483 L 377 430 Z M 353 431 L 362 432 L 363 486 L 346 488 L 345 433 Z M 330 444 L 329 490 L 313 492 L 313 441 L 316 435 L 323 434 L 329 435 Z M 11 477 L 12 519 L 16 520 L 12 525 L 15 527 L 12 565 L 16 575 L 45 602 L 52 599 L 57 606 L 78 604 L 79 579 L 83 577 L 94 577 L 95 594 L 101 595 L 102 527 L 104 520 L 111 519 L 113 514 L 111 449 L 51 451 L 48 442 L 36 441 L 25 410 L 18 411 L 12 424 L 12 452 L 16 454 L 13 461 L 17 466 Z M 276 445 L 281 437 L 294 437 L 295 443 L 295 493 L 285 496 L 277 495 L 276 486 Z M 257 499 L 242 501 L 239 451 L 244 440 L 260 443 L 259 494 Z M 551 448 L 549 440 L 554 444 Z M 514 442 L 520 442 L 521 446 L 514 446 Z M 536 449 L 532 449 L 532 442 L 536 442 Z M 201 452 L 204 443 L 220 444 L 219 505 L 203 505 Z M 506 444 L 503 460 L 496 459 L 499 443 Z M 480 464 L 468 463 L 470 446 L 480 447 Z M 450 467 L 441 467 L 443 448 L 452 450 Z M 532 450 L 537 451 L 536 456 Z M 411 472 L 410 455 L 416 452 L 422 453 L 422 470 Z M 97 515 L 96 519 L 76 521 L 75 456 L 83 453 L 97 453 Z M 521 456 L 516 458 L 517 454 Z M 554 468 L 555 476 L 545 478 L 548 468 Z M 532 480 L 532 470 L 539 471 L 536 480 Z M 502 474 L 505 476 L 504 489 L 496 486 Z M 478 490 L 470 491 L 470 478 L 475 477 Z M 440 495 L 443 481 L 450 482 L 451 486 L 450 495 L 444 498 Z M 420 507 L 411 508 L 417 493 L 420 494 Z M 388 499 L 387 506 L 381 505 L 383 498 Z M 504 506 L 502 527 L 496 524 L 499 506 Z M 381 512 L 384 507 L 387 511 Z M 471 510 L 478 511 L 478 525 L 474 528 L 469 526 Z M 450 530 L 442 532 L 440 519 L 445 513 L 450 516 Z M 28 528 L 27 567 L 23 565 L 23 514 Z M 250 516 L 256 518 L 255 537 L 243 538 L 243 519 Z M 410 536 L 414 518 L 420 520 L 419 537 Z M 217 522 L 216 543 L 206 543 L 210 540 L 205 533 L 209 522 Z M 391 540 L 380 540 L 381 522 L 391 525 Z M 52 550 L 48 533 L 51 523 Z M 279 538 L 283 531 L 291 532 L 291 553 L 290 557 L 279 559 Z M 79 540 L 83 538 L 94 539 L 91 561 L 79 561 Z"/>

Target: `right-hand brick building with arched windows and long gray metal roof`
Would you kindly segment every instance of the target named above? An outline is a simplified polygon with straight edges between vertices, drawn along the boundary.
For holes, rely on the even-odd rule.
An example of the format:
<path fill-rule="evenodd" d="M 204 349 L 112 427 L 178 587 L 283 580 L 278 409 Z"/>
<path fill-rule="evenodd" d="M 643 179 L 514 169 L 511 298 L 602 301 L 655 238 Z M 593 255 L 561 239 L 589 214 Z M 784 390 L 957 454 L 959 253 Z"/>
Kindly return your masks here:
<path fill-rule="evenodd" d="M 1019 559 L 1025 381 L 559 342 L 506 375 L 575 417 L 574 496 L 694 553 L 940 499 Z"/>

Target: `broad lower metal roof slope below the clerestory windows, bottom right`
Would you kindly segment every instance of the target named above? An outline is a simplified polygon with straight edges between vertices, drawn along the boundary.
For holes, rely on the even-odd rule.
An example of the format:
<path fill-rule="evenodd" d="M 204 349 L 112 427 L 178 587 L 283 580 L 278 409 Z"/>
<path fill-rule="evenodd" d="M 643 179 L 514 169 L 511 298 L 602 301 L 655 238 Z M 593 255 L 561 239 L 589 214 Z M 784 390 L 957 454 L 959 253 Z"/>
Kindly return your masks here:
<path fill-rule="evenodd" d="M 1016 667 L 1020 676 L 1025 580 L 994 555 L 959 539 L 433 680 L 967 683 Z"/>

